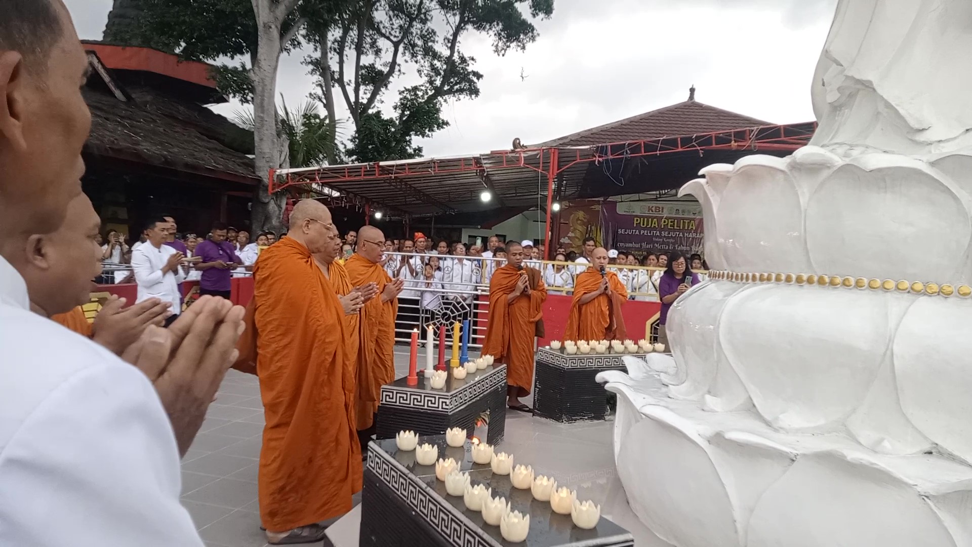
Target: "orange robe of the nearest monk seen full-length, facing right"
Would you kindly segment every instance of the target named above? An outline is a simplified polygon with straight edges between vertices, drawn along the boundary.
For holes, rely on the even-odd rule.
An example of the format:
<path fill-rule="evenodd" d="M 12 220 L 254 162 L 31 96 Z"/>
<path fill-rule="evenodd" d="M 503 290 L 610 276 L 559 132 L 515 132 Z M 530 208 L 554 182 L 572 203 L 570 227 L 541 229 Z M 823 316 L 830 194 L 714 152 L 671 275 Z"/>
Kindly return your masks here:
<path fill-rule="evenodd" d="M 253 274 L 266 419 L 260 518 L 284 531 L 347 513 L 362 488 L 354 378 L 344 309 L 307 247 L 283 237 L 260 253 Z"/>

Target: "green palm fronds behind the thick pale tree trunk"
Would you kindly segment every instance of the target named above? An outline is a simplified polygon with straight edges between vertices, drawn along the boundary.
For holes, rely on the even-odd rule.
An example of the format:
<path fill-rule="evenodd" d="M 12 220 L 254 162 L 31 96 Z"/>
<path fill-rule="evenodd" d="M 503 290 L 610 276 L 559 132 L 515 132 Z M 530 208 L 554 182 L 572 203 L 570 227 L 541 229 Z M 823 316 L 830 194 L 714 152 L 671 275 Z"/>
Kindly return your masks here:
<path fill-rule="evenodd" d="M 281 97 L 281 106 L 277 109 L 277 134 L 288 140 L 288 153 L 292 167 L 311 167 L 329 163 L 330 158 L 339 158 L 339 151 L 335 149 L 334 134 L 340 134 L 339 123 L 331 123 L 322 117 L 318 105 L 307 101 L 298 104 L 295 109 L 287 107 L 287 102 Z M 237 111 L 233 115 L 233 122 L 242 128 L 256 127 L 253 111 Z"/>

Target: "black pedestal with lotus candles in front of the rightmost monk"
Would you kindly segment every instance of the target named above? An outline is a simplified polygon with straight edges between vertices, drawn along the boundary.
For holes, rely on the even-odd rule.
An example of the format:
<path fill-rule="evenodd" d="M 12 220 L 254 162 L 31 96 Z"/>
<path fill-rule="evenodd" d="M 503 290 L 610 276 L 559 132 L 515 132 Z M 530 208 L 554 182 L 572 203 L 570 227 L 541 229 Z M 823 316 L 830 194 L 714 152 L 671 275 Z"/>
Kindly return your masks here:
<path fill-rule="evenodd" d="M 644 353 L 568 355 L 563 349 L 538 348 L 534 415 L 562 422 L 605 419 L 610 394 L 594 377 L 627 370 L 624 355 L 644 358 Z"/>

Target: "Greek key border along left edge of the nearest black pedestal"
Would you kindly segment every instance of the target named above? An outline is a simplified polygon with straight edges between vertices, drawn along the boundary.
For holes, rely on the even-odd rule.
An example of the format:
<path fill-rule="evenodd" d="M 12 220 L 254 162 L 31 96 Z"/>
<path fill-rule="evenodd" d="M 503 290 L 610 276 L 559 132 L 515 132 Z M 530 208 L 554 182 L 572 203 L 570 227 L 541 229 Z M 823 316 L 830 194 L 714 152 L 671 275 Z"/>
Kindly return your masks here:
<path fill-rule="evenodd" d="M 367 453 L 367 468 L 399 495 L 426 523 L 456 547 L 500 547 L 492 537 L 469 522 L 451 503 L 432 492 L 407 469 L 372 446 Z"/>

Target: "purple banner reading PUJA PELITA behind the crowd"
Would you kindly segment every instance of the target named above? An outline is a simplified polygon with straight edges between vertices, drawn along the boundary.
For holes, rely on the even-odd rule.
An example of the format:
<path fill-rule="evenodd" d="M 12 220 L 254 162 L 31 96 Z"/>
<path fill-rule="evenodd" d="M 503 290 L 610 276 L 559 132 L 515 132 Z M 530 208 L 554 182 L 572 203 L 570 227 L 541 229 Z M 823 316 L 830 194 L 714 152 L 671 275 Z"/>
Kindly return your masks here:
<path fill-rule="evenodd" d="M 608 249 L 702 253 L 702 206 L 692 202 L 608 201 L 601 207 Z"/>

